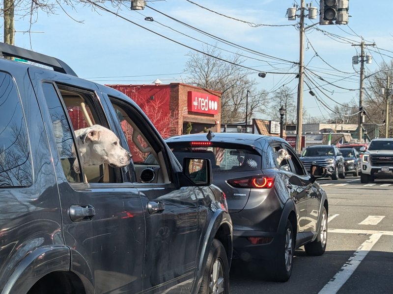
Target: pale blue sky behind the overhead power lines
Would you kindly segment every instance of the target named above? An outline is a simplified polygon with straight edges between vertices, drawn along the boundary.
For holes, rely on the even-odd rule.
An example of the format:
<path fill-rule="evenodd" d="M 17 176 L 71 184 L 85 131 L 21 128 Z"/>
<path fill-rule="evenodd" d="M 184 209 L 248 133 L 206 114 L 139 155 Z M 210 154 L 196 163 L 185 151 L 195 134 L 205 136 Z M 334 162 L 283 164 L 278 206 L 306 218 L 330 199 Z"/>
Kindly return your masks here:
<path fill-rule="evenodd" d="M 197 27 L 200 30 L 241 45 L 254 51 L 271 55 L 286 61 L 299 61 L 299 32 L 294 25 L 297 21 L 285 18 L 286 9 L 299 1 L 285 0 L 193 0 L 193 2 L 216 11 L 222 15 L 236 18 L 245 22 L 263 25 L 286 26 L 250 26 L 244 22 L 226 18 L 222 15 L 202 9 L 187 0 L 148 1 L 152 8 L 168 16 Z M 310 1 L 306 1 L 309 3 Z M 312 1 L 319 8 L 319 1 Z M 104 5 L 116 11 L 107 1 Z M 186 75 L 183 73 L 187 61 L 186 47 L 155 35 L 135 24 L 114 16 L 108 12 L 92 11 L 89 7 L 78 5 L 75 9 L 65 7 L 67 13 L 78 23 L 68 17 L 61 9 L 55 15 L 40 12 L 31 30 L 31 36 L 17 32 L 17 46 L 56 56 L 68 63 L 71 68 L 83 78 L 101 84 L 151 84 L 156 78 L 163 83 L 179 82 Z M 322 76 L 326 81 L 316 79 L 327 96 L 339 102 L 359 101 L 359 69 L 360 65 L 352 65 L 352 56 L 360 53 L 359 46 L 363 37 L 365 42 L 375 42 L 377 48 L 367 47 L 366 54 L 372 55 L 372 64 L 367 64 L 365 74 L 378 70 L 383 62 L 390 63 L 393 58 L 393 29 L 391 28 L 392 0 L 350 0 L 348 25 L 315 25 L 307 30 L 305 40 L 305 65 L 313 73 Z M 122 17 L 173 39 L 188 47 L 200 50 L 202 42 L 244 54 L 245 66 L 256 71 L 295 73 L 296 67 L 291 63 L 272 60 L 266 56 L 239 51 L 231 46 L 217 43 L 195 30 L 180 25 L 170 18 L 145 7 L 144 10 L 131 11 L 126 7 L 118 10 Z M 144 21 L 152 17 L 156 22 Z M 172 29 L 181 31 L 179 34 Z M 317 20 L 306 20 L 306 25 L 312 25 Z M 289 25 L 289 26 L 288 26 Z M 28 30 L 28 19 L 17 20 L 17 31 Z M 321 31 L 322 30 L 322 31 Z M 309 44 L 308 44 L 309 41 Z M 312 46 L 312 47 L 311 47 Z M 318 56 L 316 56 L 315 51 Z M 222 56 L 228 52 L 222 51 Z M 322 60 L 323 59 L 323 60 Z M 328 63 L 330 66 L 328 66 Z M 343 73 L 344 72 L 344 73 Z M 267 91 L 278 89 L 286 84 L 296 92 L 297 79 L 294 74 L 268 73 L 265 78 L 259 78 L 257 72 L 250 77 L 258 82 L 258 88 Z M 313 76 L 316 78 L 316 75 Z M 341 81 L 338 81 L 341 80 Z M 315 79 L 314 79 L 315 81 Z M 309 85 L 313 87 L 310 82 Z M 349 90 L 347 90 L 349 89 Z M 330 111 L 315 98 L 308 94 L 305 85 L 304 106 L 309 114 L 315 117 L 329 117 Z M 324 96 L 317 96 L 330 107 L 336 103 Z M 261 115 L 261 118 L 266 118 Z"/>

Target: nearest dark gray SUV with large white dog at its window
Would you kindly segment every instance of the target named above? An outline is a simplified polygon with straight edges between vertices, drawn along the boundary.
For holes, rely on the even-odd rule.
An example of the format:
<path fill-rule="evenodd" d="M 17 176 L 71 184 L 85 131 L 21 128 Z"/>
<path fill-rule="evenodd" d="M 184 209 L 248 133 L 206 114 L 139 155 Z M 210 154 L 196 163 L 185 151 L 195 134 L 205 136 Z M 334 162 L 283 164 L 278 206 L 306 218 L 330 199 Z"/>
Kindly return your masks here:
<path fill-rule="evenodd" d="M 232 223 L 210 162 L 182 169 L 130 98 L 62 61 L 0 52 L 53 68 L 0 58 L 0 293 L 229 293 Z M 74 131 L 92 124 L 135 162 L 77 172 Z"/>

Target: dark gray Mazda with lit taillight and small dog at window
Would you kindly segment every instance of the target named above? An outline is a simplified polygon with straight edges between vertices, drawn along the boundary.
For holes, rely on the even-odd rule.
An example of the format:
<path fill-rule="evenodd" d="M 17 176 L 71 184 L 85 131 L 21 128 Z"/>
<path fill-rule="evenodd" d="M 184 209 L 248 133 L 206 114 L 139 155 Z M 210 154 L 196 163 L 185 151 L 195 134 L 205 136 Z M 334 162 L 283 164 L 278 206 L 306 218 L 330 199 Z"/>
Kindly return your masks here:
<path fill-rule="evenodd" d="M 309 255 L 324 253 L 329 207 L 315 180 L 326 171 L 314 165 L 309 174 L 286 141 L 242 133 L 165 141 L 179 162 L 200 157 L 212 163 L 213 183 L 225 192 L 233 221 L 234 256 L 260 261 L 260 269 L 266 269 L 262 278 L 287 281 L 299 246 Z M 282 148 L 292 157 L 278 163 L 276 152 Z"/>

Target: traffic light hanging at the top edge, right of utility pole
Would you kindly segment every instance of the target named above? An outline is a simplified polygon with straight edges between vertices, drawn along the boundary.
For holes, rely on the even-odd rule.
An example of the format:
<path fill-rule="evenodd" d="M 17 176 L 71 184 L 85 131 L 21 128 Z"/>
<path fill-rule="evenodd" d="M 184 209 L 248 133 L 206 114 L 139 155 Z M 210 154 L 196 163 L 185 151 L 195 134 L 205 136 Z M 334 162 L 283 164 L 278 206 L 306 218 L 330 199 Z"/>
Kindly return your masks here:
<path fill-rule="evenodd" d="M 348 24 L 349 0 L 320 0 L 320 25 Z"/>

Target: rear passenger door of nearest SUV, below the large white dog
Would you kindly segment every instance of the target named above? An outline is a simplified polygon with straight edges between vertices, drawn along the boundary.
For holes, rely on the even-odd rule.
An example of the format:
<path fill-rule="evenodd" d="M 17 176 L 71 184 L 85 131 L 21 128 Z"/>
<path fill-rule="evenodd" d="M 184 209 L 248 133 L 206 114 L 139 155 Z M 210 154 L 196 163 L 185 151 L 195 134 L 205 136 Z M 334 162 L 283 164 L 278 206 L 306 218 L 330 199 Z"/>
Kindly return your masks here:
<path fill-rule="evenodd" d="M 96 92 L 95 84 L 78 78 L 71 81 L 68 76 L 47 74 L 38 68 L 30 68 L 29 75 L 42 106 L 47 101 L 58 101 L 56 94 L 44 92 L 44 80 L 76 85 L 103 99 Z M 45 95 L 50 95 L 50 99 Z M 59 105 L 54 107 L 61 110 L 60 119 L 69 121 Z M 55 136 L 51 117 L 44 107 L 41 114 L 48 133 Z M 52 147 L 52 152 L 58 156 L 56 147 Z M 145 224 L 139 191 L 131 183 L 70 183 L 59 160 L 55 169 L 65 244 L 71 248 L 71 270 L 85 271 L 86 277 L 90 275 L 96 293 L 140 292 L 144 259 L 140 252 L 144 252 Z M 82 269 L 79 262 L 84 262 Z"/>

